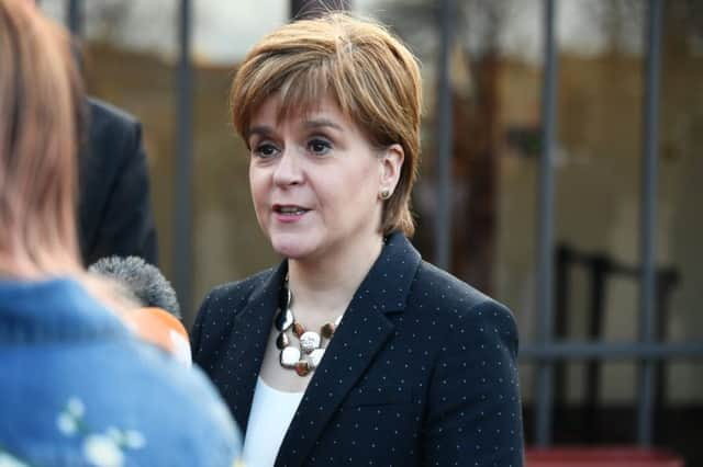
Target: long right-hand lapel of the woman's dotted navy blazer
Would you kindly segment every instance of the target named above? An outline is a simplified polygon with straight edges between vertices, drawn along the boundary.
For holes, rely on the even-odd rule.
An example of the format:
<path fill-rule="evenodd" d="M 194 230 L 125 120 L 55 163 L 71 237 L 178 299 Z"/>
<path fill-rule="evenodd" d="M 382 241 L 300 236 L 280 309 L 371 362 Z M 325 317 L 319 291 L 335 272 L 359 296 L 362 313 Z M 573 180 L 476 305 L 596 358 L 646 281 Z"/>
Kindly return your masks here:
<path fill-rule="evenodd" d="M 277 467 L 303 464 L 346 395 L 392 337 L 394 326 L 386 315 L 405 308 L 420 260 L 404 236 L 389 237 L 310 380 L 279 449 Z"/>

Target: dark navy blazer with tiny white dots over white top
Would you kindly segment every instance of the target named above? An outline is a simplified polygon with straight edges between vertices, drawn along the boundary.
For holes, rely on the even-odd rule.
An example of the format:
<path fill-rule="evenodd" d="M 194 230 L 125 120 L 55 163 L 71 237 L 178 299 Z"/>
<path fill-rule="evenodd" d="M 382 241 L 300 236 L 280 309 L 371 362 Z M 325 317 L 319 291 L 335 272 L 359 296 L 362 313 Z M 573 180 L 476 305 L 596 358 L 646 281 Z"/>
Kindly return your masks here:
<path fill-rule="evenodd" d="M 193 360 L 243 431 L 287 263 L 212 291 Z M 510 310 L 394 234 L 315 371 L 276 466 L 523 465 Z M 253 466 L 256 467 L 256 466 Z"/>

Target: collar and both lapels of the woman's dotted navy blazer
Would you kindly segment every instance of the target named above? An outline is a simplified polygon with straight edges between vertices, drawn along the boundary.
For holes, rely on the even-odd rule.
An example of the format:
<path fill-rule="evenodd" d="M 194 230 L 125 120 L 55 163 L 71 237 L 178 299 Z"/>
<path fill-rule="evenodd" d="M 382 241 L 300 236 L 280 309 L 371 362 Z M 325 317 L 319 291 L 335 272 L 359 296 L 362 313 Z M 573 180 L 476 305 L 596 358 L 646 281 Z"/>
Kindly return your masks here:
<path fill-rule="evenodd" d="M 308 385 L 276 465 L 303 464 L 325 424 L 391 337 L 394 328 L 386 315 L 404 310 L 420 261 L 420 253 L 402 234 L 387 238 Z M 225 398 L 244 432 L 287 272 L 283 261 L 255 287 L 235 317 L 227 352 L 234 362 L 234 378 Z"/>

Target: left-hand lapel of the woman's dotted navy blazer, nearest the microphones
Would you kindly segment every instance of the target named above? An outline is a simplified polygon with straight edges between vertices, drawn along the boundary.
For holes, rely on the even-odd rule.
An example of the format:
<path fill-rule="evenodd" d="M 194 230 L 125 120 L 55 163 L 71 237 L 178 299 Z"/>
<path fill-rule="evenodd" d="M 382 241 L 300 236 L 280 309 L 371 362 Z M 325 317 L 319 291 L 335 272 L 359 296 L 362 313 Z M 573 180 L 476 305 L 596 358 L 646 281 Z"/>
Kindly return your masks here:
<path fill-rule="evenodd" d="M 283 261 L 264 282 L 254 289 L 249 300 L 234 318 L 227 357 L 232 365 L 232 390 L 225 395 L 234 418 L 246 432 L 254 399 L 256 380 L 261 369 L 264 353 L 274 315 L 280 299 L 280 291 L 288 264 Z"/>

